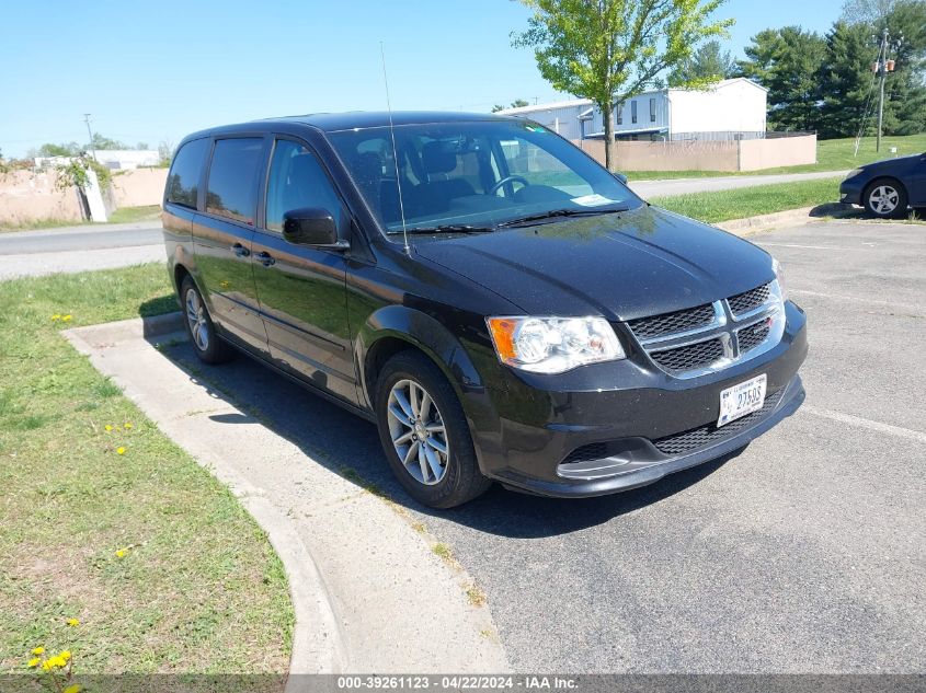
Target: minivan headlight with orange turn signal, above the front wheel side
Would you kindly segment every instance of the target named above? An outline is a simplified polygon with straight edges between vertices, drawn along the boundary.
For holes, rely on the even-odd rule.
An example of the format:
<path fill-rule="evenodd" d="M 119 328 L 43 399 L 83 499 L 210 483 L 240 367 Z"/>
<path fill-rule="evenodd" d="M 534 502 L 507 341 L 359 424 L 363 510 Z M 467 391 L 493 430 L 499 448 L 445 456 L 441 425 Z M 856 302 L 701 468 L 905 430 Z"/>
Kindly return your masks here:
<path fill-rule="evenodd" d="M 535 373 L 562 373 L 576 366 L 625 357 L 604 317 L 487 317 L 502 363 Z"/>

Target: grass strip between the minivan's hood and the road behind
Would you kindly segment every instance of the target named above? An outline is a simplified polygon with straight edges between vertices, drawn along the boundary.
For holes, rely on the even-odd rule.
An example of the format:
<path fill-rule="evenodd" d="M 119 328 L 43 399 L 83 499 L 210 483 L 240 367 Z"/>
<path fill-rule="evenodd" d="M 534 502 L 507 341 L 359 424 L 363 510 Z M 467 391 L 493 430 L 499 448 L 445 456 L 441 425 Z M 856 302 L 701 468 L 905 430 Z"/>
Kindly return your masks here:
<path fill-rule="evenodd" d="M 835 203 L 839 198 L 841 178 L 821 178 L 776 185 L 757 185 L 718 193 L 691 193 L 672 197 L 653 197 L 649 201 L 679 215 L 707 223 L 768 215 Z"/>

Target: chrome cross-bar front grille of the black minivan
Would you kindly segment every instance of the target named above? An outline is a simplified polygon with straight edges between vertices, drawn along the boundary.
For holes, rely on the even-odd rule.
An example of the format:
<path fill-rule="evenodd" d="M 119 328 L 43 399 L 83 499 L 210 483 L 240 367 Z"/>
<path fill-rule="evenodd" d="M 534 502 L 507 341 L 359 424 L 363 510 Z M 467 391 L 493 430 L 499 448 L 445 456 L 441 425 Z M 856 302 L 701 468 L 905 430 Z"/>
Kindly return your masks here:
<path fill-rule="evenodd" d="M 771 281 L 713 303 L 638 317 L 627 326 L 660 369 L 696 378 L 775 346 L 785 332 L 784 309 L 778 284 Z"/>

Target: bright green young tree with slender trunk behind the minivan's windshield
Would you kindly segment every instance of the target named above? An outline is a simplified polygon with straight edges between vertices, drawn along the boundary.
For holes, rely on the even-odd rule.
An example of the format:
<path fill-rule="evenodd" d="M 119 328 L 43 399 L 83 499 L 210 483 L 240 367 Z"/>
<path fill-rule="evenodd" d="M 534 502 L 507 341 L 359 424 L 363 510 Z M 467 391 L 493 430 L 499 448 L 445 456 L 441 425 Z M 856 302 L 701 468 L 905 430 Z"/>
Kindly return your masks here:
<path fill-rule="evenodd" d="M 513 45 L 534 48 L 540 74 L 557 91 L 590 99 L 605 125 L 605 165 L 615 162 L 614 109 L 685 62 L 705 38 L 733 20 L 712 21 L 724 0 L 521 0 L 534 14 Z M 702 86 L 705 80 L 685 83 Z"/>

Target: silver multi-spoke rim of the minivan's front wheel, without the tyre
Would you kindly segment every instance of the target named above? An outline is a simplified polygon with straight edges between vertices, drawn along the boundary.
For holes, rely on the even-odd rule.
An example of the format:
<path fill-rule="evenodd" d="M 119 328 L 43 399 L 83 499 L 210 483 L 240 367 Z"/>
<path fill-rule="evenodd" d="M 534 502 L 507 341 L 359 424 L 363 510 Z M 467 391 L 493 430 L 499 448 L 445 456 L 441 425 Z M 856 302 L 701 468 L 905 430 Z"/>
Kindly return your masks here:
<path fill-rule="evenodd" d="M 389 392 L 389 435 L 402 466 L 421 484 L 437 484 L 447 473 L 450 446 L 437 404 L 413 380 L 400 380 Z"/>

